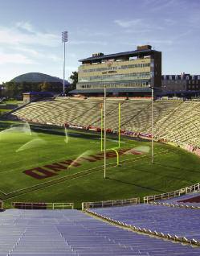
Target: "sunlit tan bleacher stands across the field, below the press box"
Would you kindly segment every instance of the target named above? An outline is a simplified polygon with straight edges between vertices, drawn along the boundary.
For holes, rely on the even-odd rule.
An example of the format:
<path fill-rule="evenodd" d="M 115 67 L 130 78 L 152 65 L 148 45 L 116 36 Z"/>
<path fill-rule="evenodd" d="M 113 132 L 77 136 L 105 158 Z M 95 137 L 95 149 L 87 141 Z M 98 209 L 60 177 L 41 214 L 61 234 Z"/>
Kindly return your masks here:
<path fill-rule="evenodd" d="M 100 127 L 100 98 L 57 97 L 32 102 L 10 114 L 28 122 Z M 107 99 L 109 129 L 118 130 L 118 104 L 121 104 L 121 130 L 151 132 L 151 103 L 147 100 Z M 200 147 L 200 101 L 154 101 L 154 137 L 179 145 Z"/>

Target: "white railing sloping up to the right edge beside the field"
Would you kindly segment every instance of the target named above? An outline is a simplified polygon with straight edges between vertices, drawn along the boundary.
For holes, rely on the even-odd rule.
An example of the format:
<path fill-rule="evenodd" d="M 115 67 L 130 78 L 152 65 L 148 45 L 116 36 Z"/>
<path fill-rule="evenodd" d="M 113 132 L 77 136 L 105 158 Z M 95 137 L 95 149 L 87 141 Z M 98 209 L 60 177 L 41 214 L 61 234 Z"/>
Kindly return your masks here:
<path fill-rule="evenodd" d="M 144 204 L 148 204 L 149 202 L 156 201 L 156 200 L 167 200 L 169 198 L 186 195 L 190 192 L 197 192 L 199 190 L 200 190 L 200 183 L 191 185 L 186 188 L 181 188 L 173 192 L 162 193 L 160 195 L 154 195 L 154 196 L 144 196 L 143 202 Z"/>

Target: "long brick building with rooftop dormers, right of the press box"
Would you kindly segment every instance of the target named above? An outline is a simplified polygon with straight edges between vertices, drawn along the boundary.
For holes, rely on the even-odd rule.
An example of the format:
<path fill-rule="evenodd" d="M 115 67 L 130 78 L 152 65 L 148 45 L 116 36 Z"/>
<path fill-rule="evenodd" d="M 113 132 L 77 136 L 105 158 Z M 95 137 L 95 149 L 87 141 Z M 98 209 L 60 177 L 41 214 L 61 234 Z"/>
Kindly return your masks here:
<path fill-rule="evenodd" d="M 183 92 L 200 91 L 200 75 L 190 75 L 184 72 L 181 75 L 161 76 L 161 88 L 163 91 Z"/>

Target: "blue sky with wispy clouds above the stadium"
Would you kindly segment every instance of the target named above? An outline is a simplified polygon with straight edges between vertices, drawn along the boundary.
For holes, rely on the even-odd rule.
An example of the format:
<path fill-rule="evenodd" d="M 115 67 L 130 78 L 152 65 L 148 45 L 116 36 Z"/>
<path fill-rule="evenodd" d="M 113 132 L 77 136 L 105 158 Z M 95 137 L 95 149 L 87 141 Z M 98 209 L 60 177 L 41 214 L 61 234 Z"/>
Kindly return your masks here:
<path fill-rule="evenodd" d="M 26 72 L 66 77 L 93 52 L 151 44 L 162 73 L 200 73 L 199 0 L 0 0 L 0 83 Z"/>

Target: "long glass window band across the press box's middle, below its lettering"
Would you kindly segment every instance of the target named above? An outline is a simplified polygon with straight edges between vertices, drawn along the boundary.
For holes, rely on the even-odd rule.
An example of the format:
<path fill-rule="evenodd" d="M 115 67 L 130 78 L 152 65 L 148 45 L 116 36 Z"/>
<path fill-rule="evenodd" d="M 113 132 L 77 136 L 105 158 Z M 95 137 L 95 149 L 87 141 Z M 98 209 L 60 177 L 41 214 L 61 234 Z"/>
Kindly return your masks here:
<path fill-rule="evenodd" d="M 106 76 L 87 76 L 79 79 L 79 82 L 88 81 L 108 81 L 108 80 L 129 80 L 129 79 L 141 79 L 153 77 L 153 72 L 140 72 L 118 75 L 106 75 Z"/>

